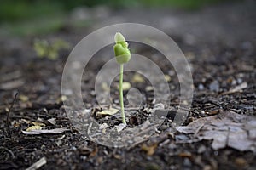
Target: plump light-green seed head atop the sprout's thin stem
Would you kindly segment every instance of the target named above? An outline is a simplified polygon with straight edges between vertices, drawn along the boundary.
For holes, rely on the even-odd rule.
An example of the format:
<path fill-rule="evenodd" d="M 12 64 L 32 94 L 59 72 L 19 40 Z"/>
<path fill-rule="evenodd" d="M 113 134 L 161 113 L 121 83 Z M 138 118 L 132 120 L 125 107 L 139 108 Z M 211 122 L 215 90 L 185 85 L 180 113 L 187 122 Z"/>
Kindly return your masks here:
<path fill-rule="evenodd" d="M 131 53 L 128 48 L 128 43 L 125 42 L 125 37 L 117 32 L 114 36 L 115 45 L 113 46 L 116 61 L 119 64 L 125 64 L 131 59 Z"/>

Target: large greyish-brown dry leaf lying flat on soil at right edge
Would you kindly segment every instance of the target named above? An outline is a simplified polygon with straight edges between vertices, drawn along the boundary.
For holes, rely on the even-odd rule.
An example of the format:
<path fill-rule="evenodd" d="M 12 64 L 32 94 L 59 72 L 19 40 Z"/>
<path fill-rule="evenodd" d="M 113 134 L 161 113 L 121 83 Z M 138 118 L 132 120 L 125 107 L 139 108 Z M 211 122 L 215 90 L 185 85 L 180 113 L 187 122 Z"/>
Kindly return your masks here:
<path fill-rule="evenodd" d="M 236 150 L 256 151 L 256 117 L 221 112 L 218 116 L 203 117 L 177 127 L 180 133 L 194 133 L 198 139 L 213 139 L 212 148 L 218 150 L 231 147 Z"/>

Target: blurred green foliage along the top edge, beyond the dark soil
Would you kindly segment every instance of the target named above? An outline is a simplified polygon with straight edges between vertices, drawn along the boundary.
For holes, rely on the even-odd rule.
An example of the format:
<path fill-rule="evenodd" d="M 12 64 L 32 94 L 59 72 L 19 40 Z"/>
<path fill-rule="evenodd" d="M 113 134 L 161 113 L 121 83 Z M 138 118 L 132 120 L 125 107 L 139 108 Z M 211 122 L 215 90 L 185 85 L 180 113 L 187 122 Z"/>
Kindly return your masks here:
<path fill-rule="evenodd" d="M 68 23 L 73 8 L 106 5 L 110 8 L 197 9 L 229 0 L 1 0 L 0 37 L 34 36 L 60 31 Z M 231 1 L 231 0 L 230 0 Z M 237 0 L 239 1 L 239 0 Z M 73 21 L 74 28 L 90 26 L 92 20 Z"/>

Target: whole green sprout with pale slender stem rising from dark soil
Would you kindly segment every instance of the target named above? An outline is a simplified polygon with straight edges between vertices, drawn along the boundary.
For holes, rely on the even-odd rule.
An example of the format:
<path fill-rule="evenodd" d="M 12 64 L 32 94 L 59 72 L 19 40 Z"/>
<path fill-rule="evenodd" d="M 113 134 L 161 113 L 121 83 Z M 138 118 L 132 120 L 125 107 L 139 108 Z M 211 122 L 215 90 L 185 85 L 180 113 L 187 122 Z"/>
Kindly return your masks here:
<path fill-rule="evenodd" d="M 120 76 L 119 76 L 119 99 L 121 106 L 121 116 L 122 121 L 126 124 L 125 121 L 125 109 L 124 109 L 124 99 L 123 99 L 123 71 L 124 64 L 131 59 L 131 53 L 128 48 L 128 43 L 125 42 L 125 37 L 117 32 L 114 36 L 115 45 L 113 46 L 114 56 L 118 64 L 120 65 Z"/>

